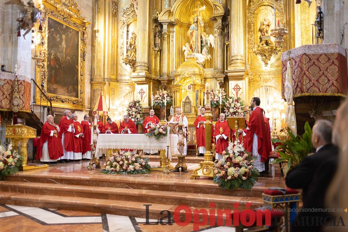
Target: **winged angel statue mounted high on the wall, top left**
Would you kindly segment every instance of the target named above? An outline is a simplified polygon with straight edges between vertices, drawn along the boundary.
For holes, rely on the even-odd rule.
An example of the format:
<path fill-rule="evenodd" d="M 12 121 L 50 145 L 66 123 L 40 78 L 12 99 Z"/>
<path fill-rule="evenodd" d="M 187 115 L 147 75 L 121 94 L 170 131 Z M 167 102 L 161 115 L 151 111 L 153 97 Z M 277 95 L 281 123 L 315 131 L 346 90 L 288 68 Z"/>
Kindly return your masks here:
<path fill-rule="evenodd" d="M 23 34 L 23 38 L 25 39 L 25 35 L 30 32 L 31 28 L 34 26 L 34 23 L 38 21 L 40 17 L 40 10 L 35 8 L 32 0 L 27 2 L 28 6 L 25 6 L 22 0 L 10 0 L 5 4 L 14 4 L 19 8 L 19 11 L 21 11 L 21 17 L 16 19 L 18 22 L 16 32 L 18 32 L 17 36 L 19 37 L 21 36 L 21 29 L 26 30 L 26 32 Z"/>

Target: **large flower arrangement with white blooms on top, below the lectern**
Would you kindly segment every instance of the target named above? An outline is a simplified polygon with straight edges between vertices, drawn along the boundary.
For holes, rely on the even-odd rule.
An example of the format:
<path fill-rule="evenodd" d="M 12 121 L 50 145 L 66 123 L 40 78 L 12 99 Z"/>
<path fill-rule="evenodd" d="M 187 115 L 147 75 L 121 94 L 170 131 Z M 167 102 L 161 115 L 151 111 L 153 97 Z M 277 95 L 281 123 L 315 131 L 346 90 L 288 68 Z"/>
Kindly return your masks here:
<path fill-rule="evenodd" d="M 230 143 L 227 152 L 222 152 L 223 159 L 215 163 L 213 182 L 222 189 L 251 189 L 260 173 L 253 166 L 256 157 L 246 152 L 243 143 Z"/>

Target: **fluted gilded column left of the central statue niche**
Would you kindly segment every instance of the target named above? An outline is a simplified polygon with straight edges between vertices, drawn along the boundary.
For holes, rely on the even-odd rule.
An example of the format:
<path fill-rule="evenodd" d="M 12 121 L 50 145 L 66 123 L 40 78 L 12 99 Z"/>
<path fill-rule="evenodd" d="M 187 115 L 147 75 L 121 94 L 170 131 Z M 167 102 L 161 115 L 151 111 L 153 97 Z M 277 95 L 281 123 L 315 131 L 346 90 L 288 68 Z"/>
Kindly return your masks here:
<path fill-rule="evenodd" d="M 135 72 L 148 72 L 149 67 L 149 1 L 138 0 Z"/>

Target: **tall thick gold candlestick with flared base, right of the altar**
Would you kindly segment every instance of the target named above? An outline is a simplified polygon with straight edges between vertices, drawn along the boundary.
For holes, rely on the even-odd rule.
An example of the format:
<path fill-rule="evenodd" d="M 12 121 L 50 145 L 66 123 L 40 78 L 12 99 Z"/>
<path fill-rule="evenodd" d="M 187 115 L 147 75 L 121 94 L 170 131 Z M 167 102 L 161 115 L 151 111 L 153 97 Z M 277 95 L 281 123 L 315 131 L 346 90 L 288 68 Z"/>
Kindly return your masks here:
<path fill-rule="evenodd" d="M 211 111 L 206 111 L 204 117 L 206 118 L 205 124 L 205 154 L 204 161 L 199 163 L 199 168 L 193 170 L 191 175 L 191 179 L 197 177 L 211 177 L 213 178 L 213 154 L 211 152 L 211 136 L 212 136 L 212 125 L 213 123 L 210 121 L 213 118 L 213 114 Z"/>

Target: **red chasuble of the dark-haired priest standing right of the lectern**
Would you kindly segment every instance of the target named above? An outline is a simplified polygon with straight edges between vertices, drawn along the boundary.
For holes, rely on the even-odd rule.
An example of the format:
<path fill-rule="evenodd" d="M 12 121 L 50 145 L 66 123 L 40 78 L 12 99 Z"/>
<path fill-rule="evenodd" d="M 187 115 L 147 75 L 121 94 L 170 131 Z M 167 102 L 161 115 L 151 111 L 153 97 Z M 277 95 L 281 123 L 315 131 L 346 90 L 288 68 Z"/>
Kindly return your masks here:
<path fill-rule="evenodd" d="M 247 133 L 248 151 L 253 151 L 253 137 L 254 134 L 258 136 L 258 153 L 261 155 L 261 162 L 267 160 L 269 154 L 267 154 L 266 148 L 266 126 L 263 119 L 263 109 L 256 107 L 253 113 L 250 115 L 249 122 L 247 123 L 251 133 Z M 263 146 L 262 146 L 263 145 Z"/>

